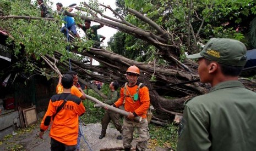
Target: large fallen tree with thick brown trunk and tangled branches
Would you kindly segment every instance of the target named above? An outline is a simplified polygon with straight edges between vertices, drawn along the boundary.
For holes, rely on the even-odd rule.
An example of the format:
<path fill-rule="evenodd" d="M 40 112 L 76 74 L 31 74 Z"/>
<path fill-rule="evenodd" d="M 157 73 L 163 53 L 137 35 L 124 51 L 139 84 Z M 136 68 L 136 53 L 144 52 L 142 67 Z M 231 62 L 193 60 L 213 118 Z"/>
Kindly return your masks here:
<path fill-rule="evenodd" d="M 128 22 L 126 18 L 119 15 L 110 6 L 105 6 L 103 4 L 100 4 L 100 6 L 105 9 L 110 9 L 113 12 L 113 14 L 118 16 L 119 19 L 106 16 L 104 15 L 104 13 L 102 13 L 102 11 L 96 8 L 92 8 L 87 3 L 84 3 L 84 8 L 79 7 L 77 9 L 79 9 L 81 12 L 86 11 L 90 15 L 81 15 L 80 13 L 69 13 L 68 11 L 66 11 L 66 14 L 69 16 L 74 16 L 75 19 L 78 20 L 86 19 L 94 22 L 99 22 L 100 24 L 104 24 L 105 26 L 116 28 L 121 32 L 125 32 L 127 34 L 133 35 L 138 39 L 142 39 L 149 45 L 154 45 L 154 47 L 157 50 L 156 53 L 154 54 L 155 57 L 157 59 L 165 60 L 166 65 L 160 66 L 157 65 L 155 62 L 135 61 L 104 49 L 83 48 L 83 50 L 79 50 L 81 49 L 81 45 L 79 45 L 80 43 L 65 43 L 63 35 L 61 35 L 62 37 L 59 38 L 57 37 L 57 34 L 54 36 L 52 36 L 52 34 L 47 34 L 47 30 L 59 30 L 59 27 L 57 25 L 55 28 L 50 28 L 51 26 L 49 26 L 48 28 L 44 28 L 45 30 L 42 31 L 41 34 L 37 35 L 36 37 L 32 37 L 32 33 L 28 33 L 29 31 L 26 31 L 26 29 L 22 31 L 13 28 L 13 41 L 14 43 L 24 44 L 24 47 L 27 47 L 29 50 L 36 49 L 32 53 L 24 53 L 25 58 L 28 58 L 28 61 L 31 61 L 29 60 L 28 57 L 31 54 L 35 56 L 37 54 L 40 54 L 37 52 L 37 49 L 40 49 L 42 51 L 45 50 L 46 47 L 49 47 L 49 52 L 43 52 L 42 54 L 40 54 L 40 57 L 43 58 L 45 62 L 52 62 L 47 63 L 47 66 L 52 66 L 51 68 L 57 67 L 59 68 L 59 71 L 61 73 L 66 73 L 69 68 L 73 71 L 77 71 L 79 77 L 81 78 L 79 80 L 82 81 L 89 88 L 95 90 L 101 97 L 104 98 L 106 98 L 106 96 L 102 94 L 101 91 L 97 90 L 93 84 L 90 84 L 89 81 L 98 80 L 103 83 L 110 83 L 112 80 L 118 80 L 119 83 L 123 84 L 126 82 L 126 77 L 124 75 L 126 73 L 126 69 L 129 66 L 136 65 L 141 70 L 139 81 L 148 86 L 150 90 L 150 102 L 152 106 L 154 106 L 156 111 L 159 113 L 165 112 L 169 114 L 180 115 L 183 110 L 184 101 L 196 95 L 204 94 L 209 90 L 210 86 L 208 84 L 201 84 L 198 82 L 199 77 L 197 74 L 197 63 L 189 59 L 184 59 L 183 61 L 180 61 L 181 55 L 184 55 L 184 52 L 182 52 L 184 46 L 187 47 L 187 50 L 190 51 L 193 51 L 195 48 L 198 48 L 196 47 L 197 43 L 201 42 L 199 33 L 201 32 L 203 28 L 202 26 L 204 25 L 203 16 L 199 16 L 197 14 L 194 17 L 189 14 L 184 14 L 184 16 L 186 16 L 187 19 L 186 22 L 184 22 L 184 24 L 186 24 L 187 28 L 190 29 L 190 31 L 188 33 L 179 33 L 180 31 L 178 30 L 167 30 L 167 28 L 157 25 L 156 22 L 148 18 L 148 16 L 141 14 L 139 11 L 136 11 L 135 9 L 128 8 L 127 11 L 130 15 L 133 15 L 141 22 L 144 22 L 144 24 L 147 25 L 150 29 L 145 30 L 141 27 L 135 26 L 132 23 Z M 211 6 L 212 5 L 209 5 L 209 7 Z M 32 18 L 30 16 L 15 16 L 12 14 L 8 14 L 8 16 L 1 16 L 0 19 L 2 19 L 3 21 L 6 21 L 8 19 L 24 19 L 27 20 L 24 23 L 24 25 L 30 25 L 31 27 L 34 27 L 37 24 L 41 23 L 31 21 L 33 19 L 40 21 L 40 18 L 36 17 Z M 203 18 L 200 20 L 200 27 L 193 27 L 192 20 L 190 20 L 190 18 L 192 17 L 193 19 L 200 19 L 200 17 Z M 46 19 L 41 20 L 46 21 Z M 20 22 L 19 25 L 21 24 Z M 52 25 L 56 24 L 56 21 L 47 20 L 47 24 L 50 24 L 49 22 L 55 22 L 54 24 L 52 23 Z M 8 26 L 4 26 L 4 28 L 9 28 L 9 24 L 10 22 L 8 22 Z M 45 25 L 45 22 L 42 22 L 42 25 Z M 195 29 L 197 29 L 197 31 Z M 39 27 L 39 30 L 41 30 L 41 27 Z M 37 37 L 41 37 L 41 39 L 36 39 Z M 48 37 L 51 38 L 46 39 Z M 62 39 L 59 40 L 58 38 Z M 31 41 L 34 42 L 36 40 L 40 41 L 44 39 L 46 40 L 39 44 L 35 44 L 36 48 L 30 48 Z M 194 45 L 192 45 L 192 43 Z M 62 57 L 64 56 L 64 53 L 66 53 L 66 50 L 61 51 L 58 48 L 52 48 L 52 45 L 58 45 L 59 48 L 63 48 L 63 45 L 64 47 L 68 45 L 70 48 L 68 49 L 68 52 L 72 51 L 72 53 L 76 55 L 79 54 L 81 56 L 92 57 L 96 61 L 100 62 L 100 65 L 91 66 L 75 58 L 70 59 L 70 62 L 67 58 L 63 60 Z M 42 61 L 37 57 L 35 57 L 32 61 L 35 60 L 39 62 Z M 45 65 L 38 66 L 41 68 L 46 67 Z M 152 77 L 154 77 L 154 80 L 151 80 Z M 250 85 L 250 89 L 255 90 L 255 88 L 253 88 L 255 87 L 255 85 L 253 85 L 253 80 L 243 80 L 243 83 L 246 85 Z"/>

